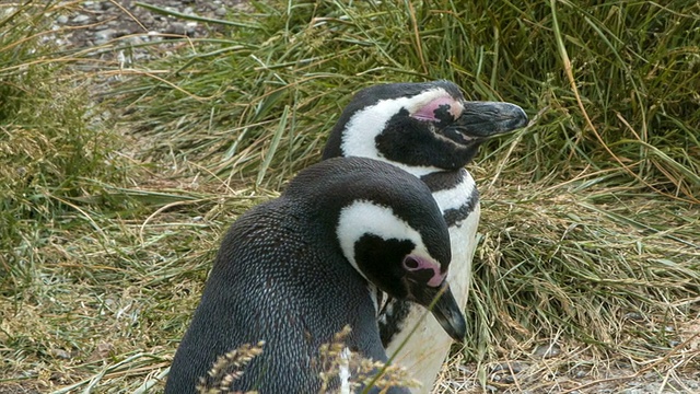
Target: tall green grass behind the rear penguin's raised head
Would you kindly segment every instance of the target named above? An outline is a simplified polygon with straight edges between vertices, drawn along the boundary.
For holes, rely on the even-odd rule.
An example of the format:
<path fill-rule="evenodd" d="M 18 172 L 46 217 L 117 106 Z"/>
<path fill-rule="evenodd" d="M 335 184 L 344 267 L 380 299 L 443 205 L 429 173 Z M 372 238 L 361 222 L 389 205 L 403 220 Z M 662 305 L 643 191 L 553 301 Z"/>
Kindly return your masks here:
<path fill-rule="evenodd" d="M 272 157 L 266 170 L 279 185 L 317 157 L 360 88 L 446 78 L 470 99 L 542 111 L 518 136 L 515 171 L 539 179 L 610 170 L 618 184 L 698 201 L 695 3 L 250 7 L 232 15 L 245 28 L 149 66 L 172 71 L 125 90 L 139 132 L 170 137 L 151 153 L 182 152 L 244 176 Z"/>

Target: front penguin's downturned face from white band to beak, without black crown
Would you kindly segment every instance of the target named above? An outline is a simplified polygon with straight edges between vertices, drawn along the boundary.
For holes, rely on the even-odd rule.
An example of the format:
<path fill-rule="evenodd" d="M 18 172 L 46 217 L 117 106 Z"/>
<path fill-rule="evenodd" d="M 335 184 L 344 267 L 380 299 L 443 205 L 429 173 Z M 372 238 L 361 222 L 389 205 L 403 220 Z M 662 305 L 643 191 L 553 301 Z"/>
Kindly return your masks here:
<path fill-rule="evenodd" d="M 341 209 L 336 234 L 345 257 L 369 282 L 430 309 L 445 332 L 460 341 L 466 323 L 446 280 L 450 237 L 432 208 L 399 216 L 381 202 L 354 200 Z M 421 220 L 421 215 L 429 220 Z M 433 220 L 439 231 L 425 227 Z"/>

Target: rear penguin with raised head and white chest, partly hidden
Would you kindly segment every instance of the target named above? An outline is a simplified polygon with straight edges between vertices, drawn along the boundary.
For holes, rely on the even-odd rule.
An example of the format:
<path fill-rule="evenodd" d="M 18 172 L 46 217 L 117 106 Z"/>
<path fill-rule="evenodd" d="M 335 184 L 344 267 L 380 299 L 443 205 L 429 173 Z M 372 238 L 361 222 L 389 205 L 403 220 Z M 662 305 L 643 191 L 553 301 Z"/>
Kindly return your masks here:
<path fill-rule="evenodd" d="M 453 260 L 448 281 L 464 311 L 480 215 L 479 192 L 464 166 L 488 138 L 526 124 L 527 115 L 520 106 L 466 101 L 448 81 L 374 85 L 358 92 L 343 109 L 323 159 L 381 160 L 428 185 L 450 228 Z M 432 389 L 452 345 L 441 325 L 422 315 L 421 309 L 397 299 L 389 300 L 380 315 L 387 354 L 396 355 L 396 361 L 423 384 L 415 393 Z"/>

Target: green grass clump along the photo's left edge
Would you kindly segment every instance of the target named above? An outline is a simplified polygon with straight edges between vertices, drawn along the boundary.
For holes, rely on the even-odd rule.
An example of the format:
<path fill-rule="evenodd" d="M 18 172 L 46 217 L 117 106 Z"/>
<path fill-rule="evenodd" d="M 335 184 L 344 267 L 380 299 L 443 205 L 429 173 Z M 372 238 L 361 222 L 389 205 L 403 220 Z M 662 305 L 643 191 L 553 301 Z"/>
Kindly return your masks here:
<path fill-rule="evenodd" d="M 32 281 L 37 248 L 102 183 L 119 183 L 119 140 L 91 119 L 86 91 L 52 55 L 54 2 L 0 8 L 0 282 Z M 7 288 L 5 288 L 7 289 Z"/>

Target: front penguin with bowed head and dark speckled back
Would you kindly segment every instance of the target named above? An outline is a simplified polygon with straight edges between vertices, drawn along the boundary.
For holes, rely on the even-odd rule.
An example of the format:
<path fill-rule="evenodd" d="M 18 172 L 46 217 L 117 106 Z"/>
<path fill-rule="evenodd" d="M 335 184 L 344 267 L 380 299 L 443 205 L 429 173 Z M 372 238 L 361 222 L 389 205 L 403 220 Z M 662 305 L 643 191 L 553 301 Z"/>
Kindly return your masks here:
<path fill-rule="evenodd" d="M 165 393 L 195 393 L 211 383 L 218 356 L 260 340 L 262 352 L 231 391 L 318 393 L 318 348 L 345 326 L 348 350 L 386 362 L 378 291 L 433 303 L 447 335 L 463 338 L 466 322 L 446 281 L 451 258 L 447 224 L 424 183 L 365 158 L 312 165 L 229 229 Z"/>

